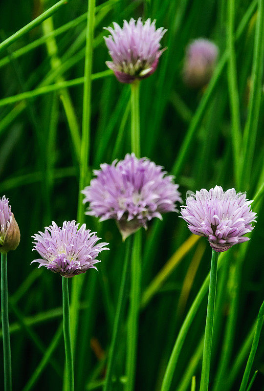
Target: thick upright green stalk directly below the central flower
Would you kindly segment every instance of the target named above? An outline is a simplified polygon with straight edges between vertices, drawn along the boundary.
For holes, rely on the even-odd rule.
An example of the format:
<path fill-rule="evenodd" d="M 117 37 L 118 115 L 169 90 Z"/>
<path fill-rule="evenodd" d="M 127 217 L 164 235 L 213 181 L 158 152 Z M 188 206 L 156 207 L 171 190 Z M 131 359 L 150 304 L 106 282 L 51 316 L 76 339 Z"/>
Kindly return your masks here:
<path fill-rule="evenodd" d="M 130 309 L 128 315 L 127 335 L 127 363 L 126 391 L 134 390 L 136 356 L 137 356 L 137 335 L 140 310 L 140 285 L 141 285 L 141 231 L 134 233 L 134 243 L 131 259 L 131 292 Z"/>

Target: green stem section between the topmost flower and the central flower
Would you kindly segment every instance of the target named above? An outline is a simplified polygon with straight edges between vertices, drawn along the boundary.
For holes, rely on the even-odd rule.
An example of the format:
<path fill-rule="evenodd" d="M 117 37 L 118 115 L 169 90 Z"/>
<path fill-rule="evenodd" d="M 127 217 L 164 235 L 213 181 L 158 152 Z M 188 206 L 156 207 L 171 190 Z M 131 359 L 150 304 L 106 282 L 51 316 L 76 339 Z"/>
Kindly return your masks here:
<path fill-rule="evenodd" d="M 131 85 L 131 150 L 140 156 L 139 81 Z"/>

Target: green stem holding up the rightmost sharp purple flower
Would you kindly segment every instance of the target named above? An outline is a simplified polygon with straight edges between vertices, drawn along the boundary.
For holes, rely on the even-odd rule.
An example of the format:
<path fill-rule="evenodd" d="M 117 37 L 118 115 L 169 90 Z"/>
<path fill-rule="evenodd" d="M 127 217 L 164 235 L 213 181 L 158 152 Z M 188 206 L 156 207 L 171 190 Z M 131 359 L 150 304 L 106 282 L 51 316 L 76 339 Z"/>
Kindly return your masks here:
<path fill-rule="evenodd" d="M 212 250 L 208 305 L 207 305 L 204 346 L 203 346 L 203 356 L 202 356 L 200 391 L 207 391 L 209 386 L 213 322 L 214 322 L 214 310 L 215 310 L 215 299 L 216 299 L 217 261 L 218 261 L 218 253 L 215 250 Z"/>

